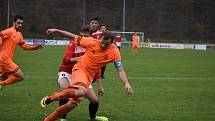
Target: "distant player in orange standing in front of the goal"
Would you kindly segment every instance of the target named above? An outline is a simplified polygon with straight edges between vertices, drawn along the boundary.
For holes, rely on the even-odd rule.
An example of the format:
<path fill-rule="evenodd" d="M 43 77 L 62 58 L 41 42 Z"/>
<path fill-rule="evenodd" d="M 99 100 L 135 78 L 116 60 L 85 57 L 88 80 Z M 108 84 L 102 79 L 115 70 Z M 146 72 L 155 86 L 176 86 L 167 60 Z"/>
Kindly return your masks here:
<path fill-rule="evenodd" d="M 139 45 L 139 37 L 137 35 L 137 32 L 134 33 L 134 35 L 132 36 L 132 53 L 133 55 L 137 55 L 138 54 L 138 46 Z"/>

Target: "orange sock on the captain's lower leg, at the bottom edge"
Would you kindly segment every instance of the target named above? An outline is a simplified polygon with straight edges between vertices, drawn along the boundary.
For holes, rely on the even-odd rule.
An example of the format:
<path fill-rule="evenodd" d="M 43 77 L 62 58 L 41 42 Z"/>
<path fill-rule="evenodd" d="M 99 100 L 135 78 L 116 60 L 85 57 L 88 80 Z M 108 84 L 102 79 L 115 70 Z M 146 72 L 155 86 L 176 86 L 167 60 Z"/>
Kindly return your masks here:
<path fill-rule="evenodd" d="M 69 104 L 64 104 L 60 107 L 58 107 L 53 113 L 51 113 L 49 116 L 47 116 L 44 121 L 55 121 L 59 117 L 67 114 L 70 110 L 72 110 L 74 107 L 71 107 Z"/>

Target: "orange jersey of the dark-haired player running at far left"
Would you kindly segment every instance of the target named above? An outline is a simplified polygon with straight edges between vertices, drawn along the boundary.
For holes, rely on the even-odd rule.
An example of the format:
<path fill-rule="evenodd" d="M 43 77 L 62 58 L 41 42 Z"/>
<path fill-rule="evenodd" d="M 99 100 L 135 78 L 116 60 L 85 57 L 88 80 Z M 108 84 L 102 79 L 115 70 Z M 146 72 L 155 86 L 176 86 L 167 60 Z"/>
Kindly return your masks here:
<path fill-rule="evenodd" d="M 17 45 L 25 44 L 21 32 L 14 27 L 1 31 L 0 60 L 13 60 Z"/>

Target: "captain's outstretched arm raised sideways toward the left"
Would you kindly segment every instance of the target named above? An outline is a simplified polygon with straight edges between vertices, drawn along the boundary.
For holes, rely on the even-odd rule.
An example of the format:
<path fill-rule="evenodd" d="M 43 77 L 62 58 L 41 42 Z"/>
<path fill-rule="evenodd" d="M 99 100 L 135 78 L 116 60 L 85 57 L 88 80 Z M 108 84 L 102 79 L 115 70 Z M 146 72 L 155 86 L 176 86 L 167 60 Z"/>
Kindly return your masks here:
<path fill-rule="evenodd" d="M 69 38 L 72 38 L 72 39 L 77 37 L 77 35 L 75 35 L 75 34 L 73 34 L 71 32 L 63 31 L 63 30 L 60 30 L 60 29 L 48 29 L 46 31 L 46 33 L 47 34 L 60 33 L 61 35 L 69 37 Z"/>

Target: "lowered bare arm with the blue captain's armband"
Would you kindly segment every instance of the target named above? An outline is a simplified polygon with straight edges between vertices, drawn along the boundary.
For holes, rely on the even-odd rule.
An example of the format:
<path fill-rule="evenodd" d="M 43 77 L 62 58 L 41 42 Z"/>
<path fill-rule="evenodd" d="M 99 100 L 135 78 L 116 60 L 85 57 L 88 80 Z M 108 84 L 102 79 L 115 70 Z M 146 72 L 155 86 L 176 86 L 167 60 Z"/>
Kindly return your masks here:
<path fill-rule="evenodd" d="M 125 74 L 125 71 L 123 69 L 123 66 L 122 66 L 122 62 L 121 60 L 118 60 L 118 61 L 115 61 L 114 62 L 114 66 L 117 70 L 117 73 L 118 73 L 118 76 L 119 78 L 122 80 L 123 84 L 124 84 L 124 87 L 125 87 L 125 90 L 127 91 L 127 94 L 130 95 L 133 93 L 133 89 L 128 81 L 128 78 Z"/>

